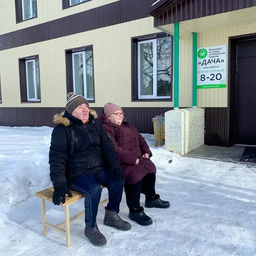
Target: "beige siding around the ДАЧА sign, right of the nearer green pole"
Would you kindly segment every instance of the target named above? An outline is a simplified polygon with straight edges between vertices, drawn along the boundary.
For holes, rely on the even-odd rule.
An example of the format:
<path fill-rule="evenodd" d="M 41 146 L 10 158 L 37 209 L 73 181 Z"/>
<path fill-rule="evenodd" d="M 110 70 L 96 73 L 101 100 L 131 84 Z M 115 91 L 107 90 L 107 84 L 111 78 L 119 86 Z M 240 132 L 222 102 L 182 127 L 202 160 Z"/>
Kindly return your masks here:
<path fill-rule="evenodd" d="M 198 47 L 227 44 L 228 61 L 228 37 L 256 33 L 256 24 L 230 28 L 221 31 L 198 34 Z M 180 107 L 192 106 L 192 35 L 180 38 L 180 82 L 179 105 Z M 228 81 L 228 63 L 227 79 Z M 198 89 L 198 107 L 227 107 L 228 86 L 220 89 Z"/>

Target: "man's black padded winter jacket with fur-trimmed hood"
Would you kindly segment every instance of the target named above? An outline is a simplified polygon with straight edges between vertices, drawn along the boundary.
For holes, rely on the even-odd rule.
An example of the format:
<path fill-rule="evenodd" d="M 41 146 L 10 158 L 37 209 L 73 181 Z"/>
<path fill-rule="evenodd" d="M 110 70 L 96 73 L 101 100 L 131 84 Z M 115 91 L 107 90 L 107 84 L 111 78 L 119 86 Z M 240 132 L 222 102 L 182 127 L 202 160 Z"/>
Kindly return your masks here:
<path fill-rule="evenodd" d="M 97 173 L 104 168 L 121 169 L 112 141 L 94 116 L 97 118 L 97 113 L 90 110 L 86 124 L 67 111 L 54 116 L 53 123 L 57 126 L 52 131 L 49 152 L 54 188 L 69 186 L 72 178 Z"/>

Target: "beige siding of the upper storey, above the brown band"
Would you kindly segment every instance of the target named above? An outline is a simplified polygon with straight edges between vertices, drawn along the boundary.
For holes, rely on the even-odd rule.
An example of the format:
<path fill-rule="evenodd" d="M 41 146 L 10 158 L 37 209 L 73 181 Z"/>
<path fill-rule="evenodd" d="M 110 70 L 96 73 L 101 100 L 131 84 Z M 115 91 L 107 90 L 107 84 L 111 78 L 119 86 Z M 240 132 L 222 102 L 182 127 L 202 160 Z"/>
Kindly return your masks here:
<path fill-rule="evenodd" d="M 0 35 L 31 27 L 50 20 L 56 20 L 74 13 L 83 12 L 119 0 L 92 0 L 62 10 L 62 0 L 37 0 L 37 18 L 16 24 L 15 1 L 0 0 Z M 6 22 L 8 20 L 8 22 Z"/>

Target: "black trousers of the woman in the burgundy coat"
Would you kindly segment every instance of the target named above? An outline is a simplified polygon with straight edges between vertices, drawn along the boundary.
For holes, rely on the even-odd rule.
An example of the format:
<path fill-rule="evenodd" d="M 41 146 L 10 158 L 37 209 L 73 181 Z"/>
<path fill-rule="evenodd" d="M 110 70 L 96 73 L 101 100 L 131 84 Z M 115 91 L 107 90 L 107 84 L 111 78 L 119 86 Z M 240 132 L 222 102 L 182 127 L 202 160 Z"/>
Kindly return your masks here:
<path fill-rule="evenodd" d="M 126 204 L 129 209 L 138 209 L 140 207 L 140 193 L 144 194 L 147 199 L 155 196 L 155 184 L 156 173 L 146 174 L 140 181 L 135 184 L 124 183 Z"/>

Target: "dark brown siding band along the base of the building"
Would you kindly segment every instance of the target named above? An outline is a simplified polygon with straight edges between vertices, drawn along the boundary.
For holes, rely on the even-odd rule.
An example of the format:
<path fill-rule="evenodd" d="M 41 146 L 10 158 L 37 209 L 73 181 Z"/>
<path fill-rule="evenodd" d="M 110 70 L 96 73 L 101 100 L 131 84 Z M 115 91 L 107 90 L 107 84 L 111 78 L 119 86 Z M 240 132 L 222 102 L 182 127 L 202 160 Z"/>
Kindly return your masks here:
<path fill-rule="evenodd" d="M 93 108 L 98 115 L 103 108 Z M 152 118 L 173 108 L 123 108 L 125 119 L 141 133 L 154 133 Z M 50 126 L 65 108 L 0 108 L 0 126 Z M 228 147 L 228 108 L 205 108 L 205 145 Z"/>

